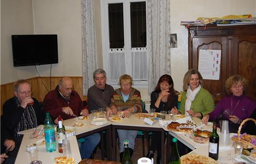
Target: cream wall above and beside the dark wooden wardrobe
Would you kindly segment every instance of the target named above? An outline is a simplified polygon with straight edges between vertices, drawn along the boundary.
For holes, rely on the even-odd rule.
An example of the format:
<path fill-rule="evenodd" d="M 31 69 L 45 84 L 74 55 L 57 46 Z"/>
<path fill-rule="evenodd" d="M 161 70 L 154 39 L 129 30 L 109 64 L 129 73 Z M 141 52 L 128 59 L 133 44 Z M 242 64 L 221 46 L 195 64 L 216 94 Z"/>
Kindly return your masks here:
<path fill-rule="evenodd" d="M 171 48 L 171 75 L 177 91 L 182 90 L 183 77 L 188 70 L 188 30 L 180 26 L 181 21 L 231 14 L 256 16 L 255 0 L 170 0 L 170 6 L 171 33 L 177 33 L 178 41 L 178 48 Z"/>

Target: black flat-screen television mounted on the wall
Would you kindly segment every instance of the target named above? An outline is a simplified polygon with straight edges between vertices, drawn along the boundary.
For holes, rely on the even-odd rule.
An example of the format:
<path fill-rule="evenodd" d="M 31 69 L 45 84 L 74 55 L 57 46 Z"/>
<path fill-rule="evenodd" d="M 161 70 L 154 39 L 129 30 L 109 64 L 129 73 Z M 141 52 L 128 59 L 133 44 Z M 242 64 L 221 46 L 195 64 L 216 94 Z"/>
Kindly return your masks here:
<path fill-rule="evenodd" d="M 56 64 L 57 35 L 12 35 L 12 55 L 14 67 Z"/>

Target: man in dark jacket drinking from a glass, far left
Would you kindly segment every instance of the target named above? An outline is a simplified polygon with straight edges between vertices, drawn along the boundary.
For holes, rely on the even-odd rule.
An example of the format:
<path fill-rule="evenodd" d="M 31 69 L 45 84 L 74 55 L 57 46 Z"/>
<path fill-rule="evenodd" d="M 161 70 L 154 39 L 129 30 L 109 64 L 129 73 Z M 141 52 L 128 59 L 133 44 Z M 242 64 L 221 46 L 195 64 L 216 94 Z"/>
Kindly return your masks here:
<path fill-rule="evenodd" d="M 45 112 L 38 100 L 31 97 L 31 84 L 29 81 L 17 80 L 13 85 L 14 97 L 8 99 L 3 105 L 3 116 L 1 117 L 1 130 L 6 129 L 5 134 L 10 134 L 6 139 L 13 139 L 7 148 L 12 147 L 8 153 L 5 163 L 14 163 L 19 152 L 23 135 L 17 134 L 20 131 L 35 128 L 44 124 Z M 3 119 L 3 120 L 2 120 Z M 2 125 L 3 124 L 3 125 Z M 1 140 L 2 138 L 1 131 Z M 3 144 L 3 143 L 2 143 Z M 1 159 L 2 162 L 2 159 Z"/>

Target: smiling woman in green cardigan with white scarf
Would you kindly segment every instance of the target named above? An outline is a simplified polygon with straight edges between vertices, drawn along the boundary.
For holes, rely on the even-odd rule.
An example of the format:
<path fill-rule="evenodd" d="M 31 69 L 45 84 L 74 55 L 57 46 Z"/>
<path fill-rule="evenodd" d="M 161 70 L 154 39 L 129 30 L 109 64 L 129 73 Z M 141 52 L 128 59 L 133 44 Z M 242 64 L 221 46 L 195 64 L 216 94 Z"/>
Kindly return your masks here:
<path fill-rule="evenodd" d="M 212 95 L 203 88 L 203 77 L 199 71 L 190 69 L 183 79 L 183 90 L 179 111 L 176 107 L 172 109 L 174 114 L 191 115 L 203 118 L 205 114 L 214 109 Z"/>

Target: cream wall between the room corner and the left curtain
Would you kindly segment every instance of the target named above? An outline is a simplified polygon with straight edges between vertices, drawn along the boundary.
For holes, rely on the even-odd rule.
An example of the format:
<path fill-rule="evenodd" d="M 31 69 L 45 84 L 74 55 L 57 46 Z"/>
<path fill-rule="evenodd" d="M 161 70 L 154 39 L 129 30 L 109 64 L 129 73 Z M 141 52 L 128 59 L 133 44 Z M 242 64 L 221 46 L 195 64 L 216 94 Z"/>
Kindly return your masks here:
<path fill-rule="evenodd" d="M 82 76 L 82 25 L 80 0 L 33 0 L 35 34 L 57 34 L 59 63 L 52 76 Z M 37 66 L 41 76 L 50 65 Z"/>

